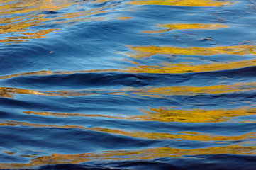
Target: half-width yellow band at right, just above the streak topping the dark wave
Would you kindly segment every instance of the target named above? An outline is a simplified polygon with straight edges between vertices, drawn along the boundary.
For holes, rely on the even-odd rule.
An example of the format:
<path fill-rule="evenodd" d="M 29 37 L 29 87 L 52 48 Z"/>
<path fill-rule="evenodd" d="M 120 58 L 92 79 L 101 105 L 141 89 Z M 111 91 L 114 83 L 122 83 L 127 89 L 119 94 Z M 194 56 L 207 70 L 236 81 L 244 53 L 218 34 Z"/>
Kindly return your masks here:
<path fill-rule="evenodd" d="M 131 57 L 152 55 L 256 55 L 255 45 L 217 46 L 217 47 L 160 47 L 129 46 L 135 51 Z"/>

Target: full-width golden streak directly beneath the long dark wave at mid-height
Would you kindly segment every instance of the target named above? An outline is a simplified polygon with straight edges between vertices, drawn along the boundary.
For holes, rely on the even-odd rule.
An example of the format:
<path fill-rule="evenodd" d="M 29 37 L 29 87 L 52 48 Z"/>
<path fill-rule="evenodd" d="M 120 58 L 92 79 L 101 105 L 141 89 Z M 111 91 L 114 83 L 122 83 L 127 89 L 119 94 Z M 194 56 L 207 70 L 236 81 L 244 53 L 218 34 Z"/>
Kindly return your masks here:
<path fill-rule="evenodd" d="M 135 94 L 140 96 L 150 96 L 156 98 L 165 98 L 173 95 L 197 95 L 197 94 L 226 94 L 243 91 L 256 90 L 256 82 L 237 83 L 232 85 L 214 85 L 214 86 L 163 86 L 163 87 L 146 87 L 146 88 L 125 88 L 120 90 L 104 91 L 101 89 L 87 89 L 83 91 L 37 91 L 30 89 L 18 89 L 11 87 L 0 87 L 0 97 L 14 98 L 16 94 L 34 94 L 45 96 L 87 96 L 96 94 L 126 95 Z"/>

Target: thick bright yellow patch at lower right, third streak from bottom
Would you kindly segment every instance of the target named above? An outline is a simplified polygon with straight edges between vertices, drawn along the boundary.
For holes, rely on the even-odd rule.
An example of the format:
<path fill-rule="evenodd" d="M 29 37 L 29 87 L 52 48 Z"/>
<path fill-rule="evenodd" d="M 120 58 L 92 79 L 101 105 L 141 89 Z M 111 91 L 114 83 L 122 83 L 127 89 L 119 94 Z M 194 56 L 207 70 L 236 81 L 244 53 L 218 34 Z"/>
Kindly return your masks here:
<path fill-rule="evenodd" d="M 217 110 L 178 110 L 171 108 L 150 108 L 138 120 L 182 123 L 218 123 L 233 120 L 238 116 L 255 115 L 256 108 L 235 108 Z"/>

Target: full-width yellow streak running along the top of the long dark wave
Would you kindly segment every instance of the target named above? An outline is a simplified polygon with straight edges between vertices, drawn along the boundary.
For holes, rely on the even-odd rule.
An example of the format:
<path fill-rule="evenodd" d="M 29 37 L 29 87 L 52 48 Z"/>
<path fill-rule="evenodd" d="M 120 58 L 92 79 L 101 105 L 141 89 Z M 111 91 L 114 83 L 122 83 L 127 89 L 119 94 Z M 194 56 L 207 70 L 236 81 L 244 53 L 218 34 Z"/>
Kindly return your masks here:
<path fill-rule="evenodd" d="M 133 62 L 134 64 L 138 64 Z M 43 70 L 39 72 L 24 72 L 18 74 L 10 74 L 1 76 L 0 79 L 9 79 L 13 77 L 26 77 L 26 76 L 48 76 L 57 74 L 75 74 L 75 73 L 89 73 L 89 72 L 130 72 L 130 73 L 187 73 L 187 72 L 212 72 L 225 69 L 239 69 L 243 67 L 255 66 L 256 60 L 243 60 L 240 62 L 221 62 L 214 64 L 201 64 L 201 65 L 189 65 L 189 64 L 162 64 L 161 65 L 137 65 L 137 67 L 126 67 L 126 69 L 91 69 L 91 70 L 79 70 L 79 71 L 60 71 L 52 72 L 50 70 Z"/>

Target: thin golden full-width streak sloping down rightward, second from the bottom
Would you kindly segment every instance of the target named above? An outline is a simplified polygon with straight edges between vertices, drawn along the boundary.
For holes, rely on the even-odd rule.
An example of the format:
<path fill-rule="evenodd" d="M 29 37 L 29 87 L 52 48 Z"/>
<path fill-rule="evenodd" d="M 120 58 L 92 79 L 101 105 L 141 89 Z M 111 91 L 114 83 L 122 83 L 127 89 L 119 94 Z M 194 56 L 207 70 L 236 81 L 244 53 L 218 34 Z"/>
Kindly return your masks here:
<path fill-rule="evenodd" d="M 87 115 L 89 116 L 89 115 Z M 107 117 L 107 116 L 105 116 Z M 128 137 L 138 137 L 138 138 L 145 138 L 149 140 L 197 140 L 203 142 L 227 142 L 227 141 L 234 141 L 234 140 L 250 140 L 255 139 L 256 134 L 253 132 L 238 135 L 238 136 L 223 136 L 223 135 L 211 135 L 207 133 L 199 133 L 199 132 L 179 132 L 178 134 L 171 134 L 171 133 L 161 133 L 161 132 L 142 132 L 142 131 L 128 131 L 128 130 L 116 130 L 110 128 L 85 128 L 81 125 L 48 125 L 48 124 L 35 124 L 35 123 L 26 123 L 26 122 L 19 122 L 19 121 L 11 121 L 11 120 L 1 120 L 0 125 L 9 125 L 9 126 L 32 126 L 36 128 L 77 128 L 77 129 L 84 129 L 84 130 L 94 130 L 96 132 L 106 132 L 116 135 L 125 135 Z"/>

